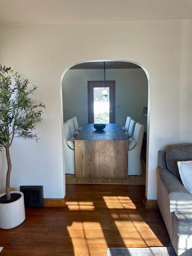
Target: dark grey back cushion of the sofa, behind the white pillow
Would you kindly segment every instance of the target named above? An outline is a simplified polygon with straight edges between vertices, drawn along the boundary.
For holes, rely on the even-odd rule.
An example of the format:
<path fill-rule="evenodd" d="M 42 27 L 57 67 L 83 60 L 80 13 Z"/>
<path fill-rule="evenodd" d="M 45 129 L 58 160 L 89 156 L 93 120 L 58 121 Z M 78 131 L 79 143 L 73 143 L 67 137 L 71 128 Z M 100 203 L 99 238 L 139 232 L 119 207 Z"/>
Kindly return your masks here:
<path fill-rule="evenodd" d="M 192 144 L 170 146 L 166 152 L 167 168 L 178 179 L 181 180 L 179 169 L 177 166 L 178 161 L 192 160 Z"/>

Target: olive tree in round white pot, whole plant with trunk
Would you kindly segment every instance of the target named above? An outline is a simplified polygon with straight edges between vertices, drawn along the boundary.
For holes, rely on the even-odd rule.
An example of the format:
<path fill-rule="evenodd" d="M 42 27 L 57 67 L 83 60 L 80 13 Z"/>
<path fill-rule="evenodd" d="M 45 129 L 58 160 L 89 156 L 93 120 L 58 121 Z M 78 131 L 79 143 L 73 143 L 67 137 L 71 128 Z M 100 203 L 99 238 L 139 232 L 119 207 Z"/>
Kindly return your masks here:
<path fill-rule="evenodd" d="M 4 229 L 16 227 L 25 220 L 23 193 L 10 192 L 10 146 L 15 137 L 38 142 L 33 130 L 41 122 L 45 108 L 43 103 L 32 99 L 37 87 L 33 85 L 29 89 L 28 86 L 28 79 L 0 65 L 0 151 L 4 148 L 7 158 L 5 193 L 0 195 L 0 228 Z"/>

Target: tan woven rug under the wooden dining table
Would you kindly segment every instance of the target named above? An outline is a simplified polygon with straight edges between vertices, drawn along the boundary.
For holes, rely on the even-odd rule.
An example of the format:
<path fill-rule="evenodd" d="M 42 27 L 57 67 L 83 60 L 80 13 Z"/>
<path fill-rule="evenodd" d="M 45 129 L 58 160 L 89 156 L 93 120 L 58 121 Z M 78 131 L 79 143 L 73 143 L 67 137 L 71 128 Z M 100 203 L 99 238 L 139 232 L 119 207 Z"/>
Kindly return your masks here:
<path fill-rule="evenodd" d="M 81 179 L 75 178 L 75 174 L 65 174 L 65 183 L 93 183 L 93 184 L 133 184 L 133 185 L 145 185 L 146 183 L 146 163 L 143 158 L 141 159 L 142 174 L 140 176 L 128 176 L 125 179 Z"/>

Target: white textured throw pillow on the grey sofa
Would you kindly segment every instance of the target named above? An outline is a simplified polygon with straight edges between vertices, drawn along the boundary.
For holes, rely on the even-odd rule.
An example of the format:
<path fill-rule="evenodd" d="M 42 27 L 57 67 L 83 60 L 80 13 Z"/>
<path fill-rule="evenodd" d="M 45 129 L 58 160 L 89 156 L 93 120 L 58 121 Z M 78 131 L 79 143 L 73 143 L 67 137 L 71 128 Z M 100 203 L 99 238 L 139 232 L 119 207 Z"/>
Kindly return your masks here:
<path fill-rule="evenodd" d="M 192 194 L 192 161 L 178 161 L 177 165 L 184 187 Z"/>

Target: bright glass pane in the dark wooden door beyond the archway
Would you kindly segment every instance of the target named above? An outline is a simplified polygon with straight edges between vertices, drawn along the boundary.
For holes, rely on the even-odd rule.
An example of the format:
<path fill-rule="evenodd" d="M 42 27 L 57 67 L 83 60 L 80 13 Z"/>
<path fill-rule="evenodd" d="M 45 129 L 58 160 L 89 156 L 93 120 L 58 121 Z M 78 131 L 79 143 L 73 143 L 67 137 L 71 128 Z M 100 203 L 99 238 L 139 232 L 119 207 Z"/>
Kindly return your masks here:
<path fill-rule="evenodd" d="M 107 97 L 102 95 L 103 87 L 94 87 L 94 123 L 109 124 L 109 87 Z"/>

